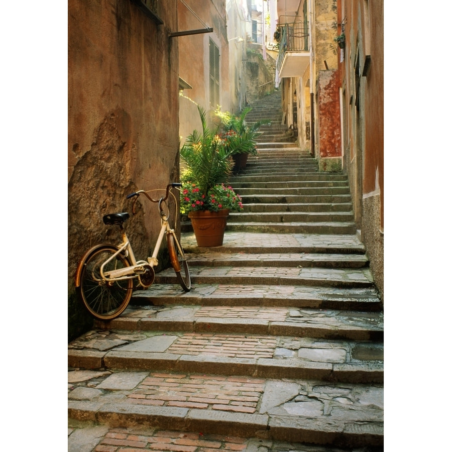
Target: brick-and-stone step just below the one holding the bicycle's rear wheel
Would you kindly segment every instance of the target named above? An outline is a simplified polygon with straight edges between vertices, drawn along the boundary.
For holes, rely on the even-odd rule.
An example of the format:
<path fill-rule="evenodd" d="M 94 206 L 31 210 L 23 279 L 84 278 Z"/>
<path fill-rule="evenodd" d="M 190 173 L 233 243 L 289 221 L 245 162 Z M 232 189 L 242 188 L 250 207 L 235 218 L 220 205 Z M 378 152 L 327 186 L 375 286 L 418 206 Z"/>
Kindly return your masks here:
<path fill-rule="evenodd" d="M 118 345 L 118 339 L 127 345 Z M 383 343 L 231 332 L 141 330 L 137 334 L 99 329 L 68 345 L 68 365 L 380 383 Z"/>

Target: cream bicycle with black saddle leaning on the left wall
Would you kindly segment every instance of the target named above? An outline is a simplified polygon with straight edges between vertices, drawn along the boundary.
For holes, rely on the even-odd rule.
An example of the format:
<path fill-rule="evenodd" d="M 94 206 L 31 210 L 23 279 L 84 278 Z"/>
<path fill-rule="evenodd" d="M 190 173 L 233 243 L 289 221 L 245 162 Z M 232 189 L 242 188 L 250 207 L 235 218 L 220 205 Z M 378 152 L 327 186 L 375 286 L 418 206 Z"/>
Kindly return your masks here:
<path fill-rule="evenodd" d="M 165 196 L 152 198 L 149 193 L 156 190 L 138 190 L 127 196 L 134 197 L 132 214 L 135 214 L 135 203 L 140 194 L 146 195 L 152 202 L 158 202 L 162 227 L 157 238 L 154 251 L 146 261 L 135 259 L 132 246 L 127 237 L 124 223 L 130 218 L 127 212 L 109 213 L 103 216 L 106 225 L 118 225 L 121 230 L 122 243 L 119 245 L 98 244 L 88 250 L 80 260 L 75 272 L 75 289 L 79 298 L 95 318 L 111 320 L 126 309 L 132 297 L 133 280 L 138 279 L 137 287 L 150 287 L 155 279 L 154 267 L 158 265 L 157 254 L 166 234 L 168 253 L 171 265 L 176 272 L 176 278 L 185 292 L 191 289 L 191 278 L 184 251 L 176 237 L 174 229 L 169 225 L 169 207 L 166 202 L 169 194 L 177 199 L 170 188 L 181 187 L 181 183 L 173 182 L 167 185 Z M 177 212 L 177 208 L 176 208 Z"/>

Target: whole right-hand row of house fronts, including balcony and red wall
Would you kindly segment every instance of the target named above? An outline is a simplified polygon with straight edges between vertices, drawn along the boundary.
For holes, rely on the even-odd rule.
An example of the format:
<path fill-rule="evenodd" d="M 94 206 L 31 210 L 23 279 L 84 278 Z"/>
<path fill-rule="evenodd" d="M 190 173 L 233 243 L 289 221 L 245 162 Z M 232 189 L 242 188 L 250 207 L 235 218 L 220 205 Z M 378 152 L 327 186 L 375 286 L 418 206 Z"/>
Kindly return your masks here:
<path fill-rule="evenodd" d="M 285 0 L 278 25 L 285 124 L 320 171 L 348 174 L 383 298 L 383 1 Z"/>

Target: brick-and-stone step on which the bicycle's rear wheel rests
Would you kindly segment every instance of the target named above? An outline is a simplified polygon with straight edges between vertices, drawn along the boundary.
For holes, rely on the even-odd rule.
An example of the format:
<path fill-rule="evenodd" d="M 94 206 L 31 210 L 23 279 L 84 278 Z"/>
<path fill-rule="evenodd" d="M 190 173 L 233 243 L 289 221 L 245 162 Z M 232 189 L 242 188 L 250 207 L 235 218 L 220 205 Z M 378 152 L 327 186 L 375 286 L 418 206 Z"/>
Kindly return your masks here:
<path fill-rule="evenodd" d="M 98 326 L 122 330 L 243 332 L 383 340 L 383 313 L 266 306 L 129 306 Z M 119 341 L 118 345 L 122 345 Z M 107 346 L 105 346 L 107 347 Z"/>

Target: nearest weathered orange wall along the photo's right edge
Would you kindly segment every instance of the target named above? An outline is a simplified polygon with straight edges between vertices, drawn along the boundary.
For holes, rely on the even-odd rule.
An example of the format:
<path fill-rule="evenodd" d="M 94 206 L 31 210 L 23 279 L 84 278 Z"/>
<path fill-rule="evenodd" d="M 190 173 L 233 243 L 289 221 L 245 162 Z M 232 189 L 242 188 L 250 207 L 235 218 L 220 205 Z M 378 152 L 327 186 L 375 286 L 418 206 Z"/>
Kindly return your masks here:
<path fill-rule="evenodd" d="M 340 63 L 344 89 L 346 171 L 357 225 L 375 283 L 383 296 L 384 115 L 383 1 L 338 0 L 346 48 Z"/>

